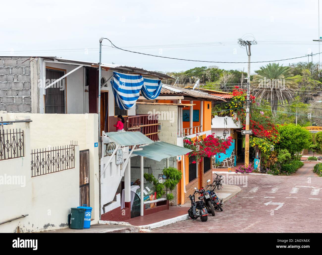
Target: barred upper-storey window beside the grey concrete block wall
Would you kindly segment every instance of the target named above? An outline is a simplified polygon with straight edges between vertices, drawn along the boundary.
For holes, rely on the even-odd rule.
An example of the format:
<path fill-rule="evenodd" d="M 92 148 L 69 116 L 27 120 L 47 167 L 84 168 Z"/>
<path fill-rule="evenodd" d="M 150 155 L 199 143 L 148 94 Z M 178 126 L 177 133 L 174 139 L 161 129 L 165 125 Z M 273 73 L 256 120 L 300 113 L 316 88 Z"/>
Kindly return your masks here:
<path fill-rule="evenodd" d="M 63 75 L 64 71 L 46 69 L 46 86 Z M 65 113 L 65 79 L 46 89 L 45 113 Z"/>

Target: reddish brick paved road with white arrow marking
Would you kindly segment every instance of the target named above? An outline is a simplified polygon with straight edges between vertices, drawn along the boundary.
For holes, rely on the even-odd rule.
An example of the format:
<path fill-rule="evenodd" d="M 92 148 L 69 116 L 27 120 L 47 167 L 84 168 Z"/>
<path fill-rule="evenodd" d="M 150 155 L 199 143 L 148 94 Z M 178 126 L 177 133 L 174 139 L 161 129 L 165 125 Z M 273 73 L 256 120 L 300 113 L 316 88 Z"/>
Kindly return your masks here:
<path fill-rule="evenodd" d="M 247 177 L 247 187 L 241 187 L 242 192 L 225 203 L 223 212 L 216 211 L 207 222 L 189 219 L 153 232 L 322 231 L 322 177 Z"/>

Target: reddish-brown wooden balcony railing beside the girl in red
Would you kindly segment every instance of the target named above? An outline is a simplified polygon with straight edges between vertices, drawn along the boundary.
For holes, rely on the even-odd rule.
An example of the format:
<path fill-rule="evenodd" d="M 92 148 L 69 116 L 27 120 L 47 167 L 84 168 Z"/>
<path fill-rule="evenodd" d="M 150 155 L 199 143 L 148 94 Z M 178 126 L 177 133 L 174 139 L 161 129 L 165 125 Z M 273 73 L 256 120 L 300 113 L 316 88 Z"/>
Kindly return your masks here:
<path fill-rule="evenodd" d="M 158 115 L 140 114 L 128 116 L 128 131 L 139 131 L 153 141 L 159 140 Z"/>

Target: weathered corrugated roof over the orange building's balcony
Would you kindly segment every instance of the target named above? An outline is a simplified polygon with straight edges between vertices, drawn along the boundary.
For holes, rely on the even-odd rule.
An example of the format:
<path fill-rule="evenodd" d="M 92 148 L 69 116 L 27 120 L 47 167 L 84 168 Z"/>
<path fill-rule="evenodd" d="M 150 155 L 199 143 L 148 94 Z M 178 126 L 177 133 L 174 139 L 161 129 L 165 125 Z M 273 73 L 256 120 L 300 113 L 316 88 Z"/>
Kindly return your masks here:
<path fill-rule="evenodd" d="M 200 90 L 188 90 L 188 89 L 178 88 L 178 87 L 165 85 L 165 84 L 162 84 L 160 95 L 162 94 L 179 94 L 179 95 L 186 95 L 194 98 L 221 100 L 226 102 L 226 100 L 223 99 L 222 96 L 213 96 L 208 93 L 203 93 Z"/>

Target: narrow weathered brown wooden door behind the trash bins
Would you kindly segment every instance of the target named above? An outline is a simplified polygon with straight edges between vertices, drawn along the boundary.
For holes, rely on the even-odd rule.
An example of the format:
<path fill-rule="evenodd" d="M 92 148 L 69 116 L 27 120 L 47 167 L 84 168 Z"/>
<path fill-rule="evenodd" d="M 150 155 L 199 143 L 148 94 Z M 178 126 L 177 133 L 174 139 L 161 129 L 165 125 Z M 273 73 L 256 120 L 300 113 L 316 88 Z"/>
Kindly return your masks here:
<path fill-rule="evenodd" d="M 90 154 L 89 150 L 80 151 L 80 206 L 90 206 Z"/>

